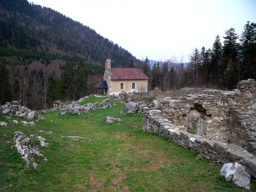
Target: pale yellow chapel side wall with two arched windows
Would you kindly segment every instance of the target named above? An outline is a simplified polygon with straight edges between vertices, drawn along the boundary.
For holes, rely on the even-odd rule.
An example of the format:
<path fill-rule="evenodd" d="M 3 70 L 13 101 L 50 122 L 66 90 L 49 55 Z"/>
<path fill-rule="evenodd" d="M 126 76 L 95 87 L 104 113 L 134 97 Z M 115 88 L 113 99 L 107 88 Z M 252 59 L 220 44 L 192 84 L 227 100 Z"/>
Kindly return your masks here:
<path fill-rule="evenodd" d="M 108 82 L 108 95 L 118 95 L 121 91 L 129 92 L 146 92 L 147 91 L 147 80 L 111 80 Z M 120 89 L 120 84 L 123 83 L 123 89 Z M 131 89 L 131 85 L 135 83 L 135 89 Z"/>

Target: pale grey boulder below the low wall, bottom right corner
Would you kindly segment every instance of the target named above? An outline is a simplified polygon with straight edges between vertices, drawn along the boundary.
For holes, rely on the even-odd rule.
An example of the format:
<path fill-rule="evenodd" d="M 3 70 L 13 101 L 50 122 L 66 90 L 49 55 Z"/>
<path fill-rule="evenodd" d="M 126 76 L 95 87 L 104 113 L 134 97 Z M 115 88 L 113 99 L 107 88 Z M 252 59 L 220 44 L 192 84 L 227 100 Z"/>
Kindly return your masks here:
<path fill-rule="evenodd" d="M 237 186 L 250 190 L 251 176 L 245 171 L 245 166 L 237 162 L 224 164 L 220 171 L 222 176 L 225 176 L 226 181 L 233 182 Z"/>

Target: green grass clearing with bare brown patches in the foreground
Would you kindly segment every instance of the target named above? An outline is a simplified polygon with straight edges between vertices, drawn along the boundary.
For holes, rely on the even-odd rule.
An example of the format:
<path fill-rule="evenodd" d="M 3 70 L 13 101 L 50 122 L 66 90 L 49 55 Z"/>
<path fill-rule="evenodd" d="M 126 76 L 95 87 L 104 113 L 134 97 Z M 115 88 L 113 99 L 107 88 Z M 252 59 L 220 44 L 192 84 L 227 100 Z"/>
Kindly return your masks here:
<path fill-rule="evenodd" d="M 143 132 L 143 115 L 122 115 L 123 108 L 113 103 L 91 114 L 56 116 L 58 111 L 53 111 L 35 127 L 0 127 L 0 191 L 242 191 L 220 176 L 220 164 L 197 160 L 196 152 Z M 123 122 L 106 124 L 105 116 Z M 10 123 L 12 119 L 2 120 Z M 25 168 L 11 148 L 18 130 L 43 136 L 49 143 L 49 147 L 39 146 L 48 161 L 37 158 L 36 170 Z M 35 137 L 32 140 L 39 144 Z M 252 181 L 251 189 L 255 186 Z"/>

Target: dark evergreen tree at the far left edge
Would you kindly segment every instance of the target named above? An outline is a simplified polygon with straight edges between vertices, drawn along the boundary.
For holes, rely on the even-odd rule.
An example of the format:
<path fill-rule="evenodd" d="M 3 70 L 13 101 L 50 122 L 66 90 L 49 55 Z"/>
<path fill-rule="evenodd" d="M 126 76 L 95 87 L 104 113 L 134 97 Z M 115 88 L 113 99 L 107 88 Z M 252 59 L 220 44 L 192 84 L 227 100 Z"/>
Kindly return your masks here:
<path fill-rule="evenodd" d="M 10 100 L 10 84 L 9 84 L 9 73 L 5 66 L 0 61 L 0 103 L 6 103 Z"/>

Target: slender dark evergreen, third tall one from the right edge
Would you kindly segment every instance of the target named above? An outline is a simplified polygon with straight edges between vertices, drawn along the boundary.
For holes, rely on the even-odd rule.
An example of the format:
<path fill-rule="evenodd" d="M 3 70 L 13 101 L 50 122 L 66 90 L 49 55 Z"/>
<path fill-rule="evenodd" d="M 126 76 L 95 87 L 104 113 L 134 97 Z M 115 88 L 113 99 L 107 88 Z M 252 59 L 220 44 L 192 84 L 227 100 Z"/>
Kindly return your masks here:
<path fill-rule="evenodd" d="M 212 74 L 212 81 L 214 85 L 218 85 L 218 78 L 221 77 L 221 61 L 222 61 L 222 44 L 220 36 L 216 36 L 216 39 L 212 46 L 212 52 L 210 54 L 210 74 Z"/>

